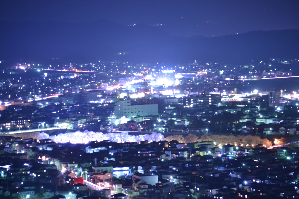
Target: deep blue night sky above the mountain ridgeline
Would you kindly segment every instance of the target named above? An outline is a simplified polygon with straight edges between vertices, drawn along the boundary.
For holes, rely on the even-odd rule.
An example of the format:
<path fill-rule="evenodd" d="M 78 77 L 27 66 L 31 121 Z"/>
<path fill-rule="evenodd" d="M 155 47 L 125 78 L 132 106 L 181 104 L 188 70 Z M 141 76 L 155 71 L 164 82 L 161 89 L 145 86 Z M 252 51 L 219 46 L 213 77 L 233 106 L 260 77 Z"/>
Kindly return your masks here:
<path fill-rule="evenodd" d="M 1 21 L 69 23 L 106 19 L 127 26 L 165 24 L 173 36 L 215 37 L 299 29 L 299 1 L 0 1 Z"/>

